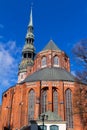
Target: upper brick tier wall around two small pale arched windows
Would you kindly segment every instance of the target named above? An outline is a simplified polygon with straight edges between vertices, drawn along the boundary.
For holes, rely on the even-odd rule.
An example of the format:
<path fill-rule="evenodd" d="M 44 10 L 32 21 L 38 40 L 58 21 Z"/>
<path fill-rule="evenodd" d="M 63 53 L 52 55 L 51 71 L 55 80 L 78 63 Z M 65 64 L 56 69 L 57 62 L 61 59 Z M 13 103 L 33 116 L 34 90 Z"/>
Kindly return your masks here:
<path fill-rule="evenodd" d="M 59 59 L 59 65 L 58 67 L 64 68 L 67 71 L 70 71 L 70 62 L 69 58 L 65 55 L 63 51 L 54 51 L 54 50 L 46 50 L 38 53 L 36 55 L 35 61 L 34 61 L 34 66 L 31 68 L 31 73 L 39 70 L 42 68 L 41 66 L 41 59 L 42 57 L 45 56 L 47 59 L 47 66 L 46 67 L 53 67 L 53 58 L 54 56 L 58 56 Z"/>

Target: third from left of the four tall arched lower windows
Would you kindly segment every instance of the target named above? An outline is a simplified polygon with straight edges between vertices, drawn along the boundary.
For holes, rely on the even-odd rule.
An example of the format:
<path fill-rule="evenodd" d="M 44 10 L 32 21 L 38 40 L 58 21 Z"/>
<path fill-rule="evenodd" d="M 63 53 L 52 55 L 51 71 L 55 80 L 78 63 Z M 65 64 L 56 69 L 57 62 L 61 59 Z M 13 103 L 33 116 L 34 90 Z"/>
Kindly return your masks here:
<path fill-rule="evenodd" d="M 53 89 L 53 111 L 58 113 L 58 93 L 56 89 Z"/>

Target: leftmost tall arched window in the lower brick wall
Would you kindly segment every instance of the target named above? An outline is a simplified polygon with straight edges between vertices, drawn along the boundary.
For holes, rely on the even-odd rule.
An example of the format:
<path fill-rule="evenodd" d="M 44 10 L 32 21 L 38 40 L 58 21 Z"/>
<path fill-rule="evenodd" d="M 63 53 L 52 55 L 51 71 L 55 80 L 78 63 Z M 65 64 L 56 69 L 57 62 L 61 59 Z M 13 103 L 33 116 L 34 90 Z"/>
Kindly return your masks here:
<path fill-rule="evenodd" d="M 34 119 L 35 92 L 31 90 L 28 95 L 28 121 Z"/>

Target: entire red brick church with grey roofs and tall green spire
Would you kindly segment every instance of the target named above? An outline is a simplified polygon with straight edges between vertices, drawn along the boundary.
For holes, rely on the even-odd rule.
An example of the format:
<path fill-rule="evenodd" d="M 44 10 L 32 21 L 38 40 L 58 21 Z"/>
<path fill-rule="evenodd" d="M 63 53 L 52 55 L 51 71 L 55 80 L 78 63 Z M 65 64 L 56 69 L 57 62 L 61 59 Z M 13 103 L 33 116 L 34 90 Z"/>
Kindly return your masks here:
<path fill-rule="evenodd" d="M 69 57 L 53 40 L 38 54 L 34 40 L 31 9 L 18 82 L 2 95 L 0 130 L 83 130 L 73 103 L 75 88 L 87 85 L 70 73 Z"/>

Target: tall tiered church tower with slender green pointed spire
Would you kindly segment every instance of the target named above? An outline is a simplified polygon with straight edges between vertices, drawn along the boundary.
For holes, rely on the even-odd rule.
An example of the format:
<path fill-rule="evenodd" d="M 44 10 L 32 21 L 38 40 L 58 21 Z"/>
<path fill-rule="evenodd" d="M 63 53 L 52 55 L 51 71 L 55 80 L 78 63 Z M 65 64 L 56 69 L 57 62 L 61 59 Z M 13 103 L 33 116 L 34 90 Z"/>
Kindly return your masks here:
<path fill-rule="evenodd" d="M 25 45 L 22 50 L 22 61 L 19 64 L 18 70 L 18 83 L 23 81 L 31 71 L 31 67 L 33 66 L 35 56 L 35 48 L 34 48 L 34 34 L 33 34 L 33 18 L 32 18 L 32 8 L 30 12 L 30 21 L 28 24 L 27 34 L 25 37 Z"/>

